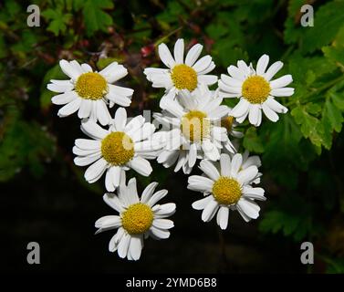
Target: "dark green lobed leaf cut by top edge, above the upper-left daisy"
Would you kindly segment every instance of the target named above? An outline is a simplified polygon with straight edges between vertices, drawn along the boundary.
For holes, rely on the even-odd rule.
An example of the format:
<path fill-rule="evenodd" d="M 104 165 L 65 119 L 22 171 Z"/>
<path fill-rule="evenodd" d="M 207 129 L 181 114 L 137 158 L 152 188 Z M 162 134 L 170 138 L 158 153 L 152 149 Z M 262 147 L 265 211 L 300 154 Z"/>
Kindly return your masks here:
<path fill-rule="evenodd" d="M 112 18 L 103 9 L 112 9 L 113 3 L 109 0 L 86 0 L 83 1 L 83 16 L 86 26 L 86 34 L 92 36 L 96 31 L 106 31 L 112 25 Z"/>

